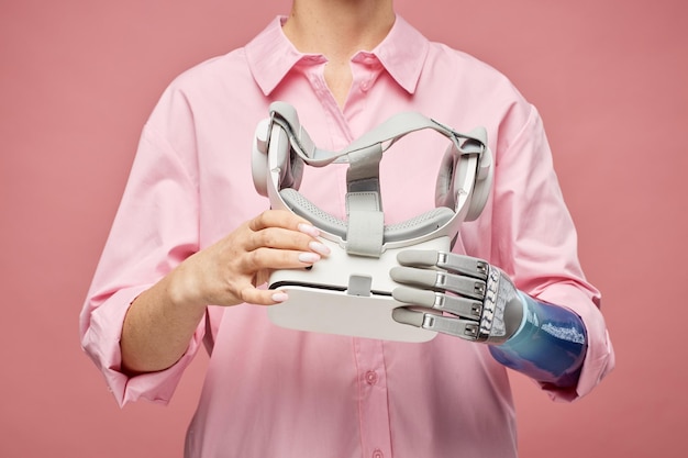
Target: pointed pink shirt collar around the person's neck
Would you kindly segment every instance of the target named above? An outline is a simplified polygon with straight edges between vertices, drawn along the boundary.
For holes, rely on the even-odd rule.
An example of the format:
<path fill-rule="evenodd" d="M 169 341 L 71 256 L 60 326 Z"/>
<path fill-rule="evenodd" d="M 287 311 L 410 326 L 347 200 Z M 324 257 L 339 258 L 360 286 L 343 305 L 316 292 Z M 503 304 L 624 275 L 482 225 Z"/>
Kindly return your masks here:
<path fill-rule="evenodd" d="M 276 18 L 246 45 L 246 58 L 254 79 L 268 96 L 306 55 L 297 51 L 281 30 L 284 16 Z M 407 92 L 413 93 L 421 75 L 429 42 L 397 15 L 382 42 L 370 52 Z"/>

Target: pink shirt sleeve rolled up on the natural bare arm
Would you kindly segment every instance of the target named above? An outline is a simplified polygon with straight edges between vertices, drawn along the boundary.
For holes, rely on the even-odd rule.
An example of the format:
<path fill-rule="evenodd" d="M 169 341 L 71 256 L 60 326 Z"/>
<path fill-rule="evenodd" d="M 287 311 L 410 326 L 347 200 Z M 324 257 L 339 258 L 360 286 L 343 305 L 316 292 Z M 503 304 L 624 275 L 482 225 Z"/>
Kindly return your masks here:
<path fill-rule="evenodd" d="M 198 250 L 197 169 L 190 110 L 182 94 L 168 90 L 142 133 L 80 314 L 81 346 L 120 405 L 141 398 L 167 403 L 202 343 L 204 323 L 173 367 L 133 378 L 121 371 L 120 337 L 130 304 Z"/>

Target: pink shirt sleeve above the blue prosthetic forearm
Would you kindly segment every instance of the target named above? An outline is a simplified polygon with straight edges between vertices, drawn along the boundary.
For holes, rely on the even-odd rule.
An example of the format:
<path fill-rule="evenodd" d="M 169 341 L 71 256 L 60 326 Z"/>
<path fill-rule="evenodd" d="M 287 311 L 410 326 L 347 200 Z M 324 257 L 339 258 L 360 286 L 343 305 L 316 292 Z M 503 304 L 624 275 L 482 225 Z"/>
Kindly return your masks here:
<path fill-rule="evenodd" d="M 502 125 L 512 135 L 496 158 L 493 201 L 488 210 L 491 253 L 486 256 L 521 291 L 566 306 L 581 317 L 588 348 L 577 386 L 541 384 L 554 400 L 573 401 L 609 373 L 614 351 L 600 313 L 600 292 L 586 280 L 578 260 L 576 228 L 554 171 L 542 120 L 534 107 L 525 107 L 528 110 L 515 116 L 525 120 L 518 122 L 519 130 L 517 123 L 508 125 L 509 118 Z"/>

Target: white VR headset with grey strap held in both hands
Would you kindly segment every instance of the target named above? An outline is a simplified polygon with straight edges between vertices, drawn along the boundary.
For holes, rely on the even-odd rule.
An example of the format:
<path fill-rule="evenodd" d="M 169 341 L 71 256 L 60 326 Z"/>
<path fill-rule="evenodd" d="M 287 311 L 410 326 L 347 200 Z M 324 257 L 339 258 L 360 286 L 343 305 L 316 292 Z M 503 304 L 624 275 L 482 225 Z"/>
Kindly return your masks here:
<path fill-rule="evenodd" d="M 430 129 L 450 141 L 440 166 L 435 204 L 426 213 L 385 224 L 379 161 L 404 135 Z M 304 165 L 347 163 L 346 220 L 319 209 L 299 193 Z M 256 127 L 253 180 L 273 209 L 289 210 L 318 227 L 331 255 L 309 269 L 276 270 L 268 288 L 289 299 L 268 308 L 282 327 L 400 342 L 426 342 L 436 333 L 392 320 L 402 304 L 389 270 L 401 250 L 450 252 L 460 224 L 480 215 L 492 181 L 492 157 L 485 129 L 460 134 L 415 112 L 390 118 L 340 152 L 315 147 L 288 103 L 270 104 Z"/>

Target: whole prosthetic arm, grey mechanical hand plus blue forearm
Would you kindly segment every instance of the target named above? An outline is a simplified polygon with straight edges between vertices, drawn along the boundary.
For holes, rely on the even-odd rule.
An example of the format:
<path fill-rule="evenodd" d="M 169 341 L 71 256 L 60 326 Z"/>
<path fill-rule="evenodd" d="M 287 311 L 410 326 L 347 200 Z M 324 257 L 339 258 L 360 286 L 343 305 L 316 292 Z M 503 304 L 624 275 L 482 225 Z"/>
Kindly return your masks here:
<path fill-rule="evenodd" d="M 534 380 L 576 384 L 587 349 L 586 329 L 568 309 L 519 291 L 497 267 L 436 250 L 399 253 L 390 271 L 399 323 L 489 344 L 501 364 Z"/>

